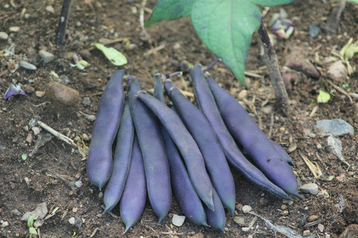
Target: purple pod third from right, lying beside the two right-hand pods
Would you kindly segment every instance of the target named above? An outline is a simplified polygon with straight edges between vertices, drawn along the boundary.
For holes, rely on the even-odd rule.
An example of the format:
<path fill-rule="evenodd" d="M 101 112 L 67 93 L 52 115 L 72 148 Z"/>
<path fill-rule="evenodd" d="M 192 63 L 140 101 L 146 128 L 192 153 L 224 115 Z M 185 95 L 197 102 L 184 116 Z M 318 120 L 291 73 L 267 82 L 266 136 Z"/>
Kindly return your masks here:
<path fill-rule="evenodd" d="M 203 112 L 190 102 L 189 99 L 174 86 L 171 80 L 164 82 L 164 88 L 166 94 L 168 94 L 171 101 L 173 101 L 189 133 L 192 134 L 198 144 L 201 154 L 203 154 L 211 181 L 222 204 L 229 209 L 231 216 L 234 216 L 236 199 L 234 178 L 227 164 L 227 158 L 217 141 L 215 131 L 213 131 L 212 126 L 203 115 Z"/>

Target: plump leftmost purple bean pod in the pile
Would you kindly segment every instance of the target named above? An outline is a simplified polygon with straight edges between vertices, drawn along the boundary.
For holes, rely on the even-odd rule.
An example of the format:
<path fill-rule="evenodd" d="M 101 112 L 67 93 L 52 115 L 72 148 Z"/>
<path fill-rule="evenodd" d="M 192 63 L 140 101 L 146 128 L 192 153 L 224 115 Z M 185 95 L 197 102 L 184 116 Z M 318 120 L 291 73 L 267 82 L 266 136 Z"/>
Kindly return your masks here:
<path fill-rule="evenodd" d="M 112 145 L 117 135 L 124 105 L 124 70 L 113 73 L 99 101 L 87 158 L 87 176 L 91 183 L 103 188 L 112 172 Z"/>

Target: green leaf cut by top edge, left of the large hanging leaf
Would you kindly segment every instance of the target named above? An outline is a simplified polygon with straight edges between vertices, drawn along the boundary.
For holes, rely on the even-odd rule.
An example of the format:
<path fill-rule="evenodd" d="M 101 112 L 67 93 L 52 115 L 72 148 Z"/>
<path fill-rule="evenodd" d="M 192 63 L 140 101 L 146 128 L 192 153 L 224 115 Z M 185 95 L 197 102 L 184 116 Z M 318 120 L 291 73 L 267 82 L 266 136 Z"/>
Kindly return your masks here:
<path fill-rule="evenodd" d="M 195 0 L 158 0 L 153 8 L 145 27 L 162 20 L 173 20 L 186 17 L 192 12 L 192 5 Z"/>

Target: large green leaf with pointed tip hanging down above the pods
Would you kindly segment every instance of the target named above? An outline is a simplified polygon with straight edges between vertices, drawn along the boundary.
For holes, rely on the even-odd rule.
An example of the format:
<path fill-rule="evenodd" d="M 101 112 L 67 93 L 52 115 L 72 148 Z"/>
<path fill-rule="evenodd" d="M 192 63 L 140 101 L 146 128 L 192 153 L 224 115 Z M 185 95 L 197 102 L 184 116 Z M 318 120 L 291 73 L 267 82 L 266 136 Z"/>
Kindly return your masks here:
<path fill-rule="evenodd" d="M 259 8 L 246 0 L 196 0 L 191 17 L 203 43 L 245 84 L 246 55 L 262 18 Z"/>

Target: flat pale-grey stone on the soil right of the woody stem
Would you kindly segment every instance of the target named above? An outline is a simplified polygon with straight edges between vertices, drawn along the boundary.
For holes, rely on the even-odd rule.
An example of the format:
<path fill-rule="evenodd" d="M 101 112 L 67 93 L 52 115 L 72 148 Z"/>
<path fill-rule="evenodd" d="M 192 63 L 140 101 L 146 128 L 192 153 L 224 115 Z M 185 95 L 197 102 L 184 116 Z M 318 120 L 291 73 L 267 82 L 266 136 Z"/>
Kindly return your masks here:
<path fill-rule="evenodd" d="M 324 132 L 331 133 L 332 135 L 355 134 L 353 126 L 342 119 L 320 120 L 317 121 L 316 126 L 317 128 L 322 128 Z"/>

